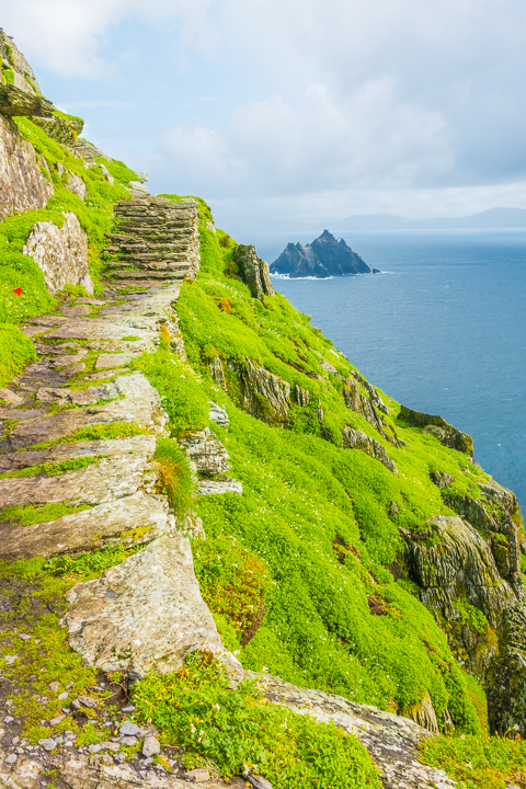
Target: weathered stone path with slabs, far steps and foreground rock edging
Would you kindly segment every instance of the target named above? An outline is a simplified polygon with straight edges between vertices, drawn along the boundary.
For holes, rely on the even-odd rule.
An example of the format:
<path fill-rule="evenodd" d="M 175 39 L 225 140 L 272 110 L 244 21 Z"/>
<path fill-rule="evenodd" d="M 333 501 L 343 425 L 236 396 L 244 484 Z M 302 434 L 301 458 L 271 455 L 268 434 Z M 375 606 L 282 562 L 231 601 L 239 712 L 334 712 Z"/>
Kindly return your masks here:
<path fill-rule="evenodd" d="M 239 663 L 225 652 L 198 591 L 190 542 L 181 530 L 187 524 L 178 528 L 167 498 L 156 491 L 152 457 L 157 437 L 167 434 L 168 416 L 157 390 L 129 367 L 156 348 L 161 330 L 185 358 L 175 306 L 178 281 L 198 270 L 197 207 L 193 201 L 129 199 L 117 205 L 116 217 L 121 226 L 106 250 L 111 276 L 104 293 L 67 296 L 55 315 L 27 321 L 23 330 L 34 339 L 38 359 L 0 391 L 0 559 L 144 545 L 98 580 L 70 591 L 65 624 L 72 648 L 101 671 L 141 676 L 151 666 L 172 671 L 188 649 L 206 645 L 239 681 Z M 214 403 L 210 419 L 228 423 Z M 199 483 L 201 495 L 242 493 L 241 483 L 225 476 L 228 454 L 207 428 L 188 437 L 185 449 L 196 470 L 208 476 Z M 46 464 L 55 467 L 52 476 L 42 468 Z M 30 476 L 20 476 L 28 469 Z M 20 513 L 5 511 L 20 505 L 46 506 L 48 519 L 21 525 Z M 61 508 L 54 514 L 50 505 Z M 117 653 L 128 655 L 125 663 L 115 659 Z M 454 786 L 418 764 L 416 745 L 426 733 L 411 721 L 275 677 L 263 679 L 270 699 L 357 734 L 382 768 L 386 789 Z M 52 725 L 48 745 L 31 746 L 19 740 L 22 723 L 10 716 L 7 695 L 9 684 L 0 691 L 0 787 L 37 789 L 49 770 L 60 786 L 72 789 L 187 786 L 181 770 L 163 774 L 151 759 L 123 764 L 119 737 L 102 748 L 77 748 L 75 736 L 53 739 Z M 115 725 L 122 714 L 114 713 Z M 243 784 L 235 779 L 229 786 Z M 205 786 L 225 785 L 209 780 Z"/>

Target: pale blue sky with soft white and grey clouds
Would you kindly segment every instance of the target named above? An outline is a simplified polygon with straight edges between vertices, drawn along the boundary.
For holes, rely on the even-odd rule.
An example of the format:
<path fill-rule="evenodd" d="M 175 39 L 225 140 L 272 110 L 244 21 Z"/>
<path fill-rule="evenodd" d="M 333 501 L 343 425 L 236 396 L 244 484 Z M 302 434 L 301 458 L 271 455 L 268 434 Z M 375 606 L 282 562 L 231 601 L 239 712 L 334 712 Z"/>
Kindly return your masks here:
<path fill-rule="evenodd" d="M 526 208 L 524 0 L 0 0 L 84 136 L 240 241 Z"/>

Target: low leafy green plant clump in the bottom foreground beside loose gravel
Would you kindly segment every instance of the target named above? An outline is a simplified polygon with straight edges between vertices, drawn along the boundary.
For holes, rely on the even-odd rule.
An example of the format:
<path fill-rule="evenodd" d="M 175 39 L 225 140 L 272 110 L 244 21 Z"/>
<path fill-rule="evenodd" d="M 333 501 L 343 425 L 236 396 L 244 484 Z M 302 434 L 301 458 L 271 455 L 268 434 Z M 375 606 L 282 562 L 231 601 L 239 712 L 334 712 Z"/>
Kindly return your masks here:
<path fill-rule="evenodd" d="M 191 655 L 182 671 L 137 683 L 133 701 L 164 742 L 184 747 L 188 768 L 211 763 L 226 779 L 258 773 L 274 789 L 380 789 L 356 737 L 266 702 L 253 683 L 229 690 L 224 667 L 209 656 Z"/>

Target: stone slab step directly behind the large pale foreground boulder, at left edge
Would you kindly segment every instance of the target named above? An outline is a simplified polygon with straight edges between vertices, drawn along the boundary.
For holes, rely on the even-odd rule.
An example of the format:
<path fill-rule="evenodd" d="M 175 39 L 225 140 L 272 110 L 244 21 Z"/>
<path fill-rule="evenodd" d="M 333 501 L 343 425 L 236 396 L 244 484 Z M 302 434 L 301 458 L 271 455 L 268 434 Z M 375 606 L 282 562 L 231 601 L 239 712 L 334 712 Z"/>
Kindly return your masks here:
<path fill-rule="evenodd" d="M 42 556 L 49 559 L 114 542 L 142 545 L 174 528 L 165 496 L 139 491 L 58 521 L 33 526 L 0 526 L 0 558 L 14 561 Z"/>

